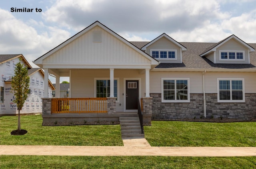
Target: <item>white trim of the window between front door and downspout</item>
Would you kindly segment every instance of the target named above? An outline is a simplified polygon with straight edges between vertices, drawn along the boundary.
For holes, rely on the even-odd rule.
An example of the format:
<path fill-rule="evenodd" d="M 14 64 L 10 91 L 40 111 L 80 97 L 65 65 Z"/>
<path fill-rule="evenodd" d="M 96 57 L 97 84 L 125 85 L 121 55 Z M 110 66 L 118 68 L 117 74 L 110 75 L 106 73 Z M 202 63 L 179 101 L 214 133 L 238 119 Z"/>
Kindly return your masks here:
<path fill-rule="evenodd" d="M 176 94 L 176 81 L 177 80 L 186 80 L 188 81 L 188 100 L 164 100 L 164 80 L 174 80 L 175 81 L 175 94 Z M 190 102 L 190 78 L 161 78 L 161 100 L 163 103 L 189 103 Z"/>

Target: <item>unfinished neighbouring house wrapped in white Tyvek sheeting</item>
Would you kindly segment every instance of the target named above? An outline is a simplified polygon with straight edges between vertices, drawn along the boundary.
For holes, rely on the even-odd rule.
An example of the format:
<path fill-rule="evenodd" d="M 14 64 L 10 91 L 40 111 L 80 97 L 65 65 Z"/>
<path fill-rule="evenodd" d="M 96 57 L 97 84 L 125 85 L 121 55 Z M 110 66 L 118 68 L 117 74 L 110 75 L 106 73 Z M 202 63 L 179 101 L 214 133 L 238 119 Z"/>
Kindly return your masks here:
<path fill-rule="evenodd" d="M 21 63 L 28 67 L 28 76 L 30 77 L 30 86 L 28 98 L 24 103 L 21 114 L 42 113 L 42 97 L 44 96 L 44 72 L 41 68 L 32 68 L 22 54 L 0 55 L 0 116 L 18 114 L 17 106 L 13 102 L 14 93 L 12 92 L 12 77 L 16 64 Z M 52 96 L 54 86 L 47 81 L 48 96 Z"/>

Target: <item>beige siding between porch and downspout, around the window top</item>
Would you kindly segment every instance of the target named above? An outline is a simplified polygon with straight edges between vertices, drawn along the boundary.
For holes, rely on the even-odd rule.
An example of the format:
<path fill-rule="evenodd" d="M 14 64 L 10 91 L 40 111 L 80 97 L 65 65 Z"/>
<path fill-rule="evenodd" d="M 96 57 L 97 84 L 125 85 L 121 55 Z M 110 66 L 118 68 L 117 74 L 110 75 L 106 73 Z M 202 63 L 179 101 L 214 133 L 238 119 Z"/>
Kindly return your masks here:
<path fill-rule="evenodd" d="M 202 72 L 151 71 L 150 93 L 161 93 L 161 78 L 189 78 L 190 93 L 203 93 Z"/>

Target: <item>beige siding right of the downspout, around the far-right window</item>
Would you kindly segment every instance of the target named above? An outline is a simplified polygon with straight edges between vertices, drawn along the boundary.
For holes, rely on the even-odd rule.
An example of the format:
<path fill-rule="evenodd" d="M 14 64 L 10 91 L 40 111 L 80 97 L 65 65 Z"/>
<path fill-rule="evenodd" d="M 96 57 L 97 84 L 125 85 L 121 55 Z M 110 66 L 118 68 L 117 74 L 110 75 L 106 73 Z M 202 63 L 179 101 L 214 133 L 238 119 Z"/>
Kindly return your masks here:
<path fill-rule="evenodd" d="M 206 72 L 205 92 L 217 93 L 217 78 L 244 78 L 245 93 L 256 93 L 255 85 L 256 73 L 226 73 L 226 72 Z"/>

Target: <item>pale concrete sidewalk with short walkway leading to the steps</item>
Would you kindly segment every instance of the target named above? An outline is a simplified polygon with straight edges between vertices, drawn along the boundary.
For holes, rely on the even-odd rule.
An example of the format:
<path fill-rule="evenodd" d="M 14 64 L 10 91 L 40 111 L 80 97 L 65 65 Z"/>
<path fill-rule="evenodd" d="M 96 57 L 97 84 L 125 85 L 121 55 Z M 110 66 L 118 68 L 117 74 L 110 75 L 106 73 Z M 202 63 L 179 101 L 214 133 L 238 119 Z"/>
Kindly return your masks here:
<path fill-rule="evenodd" d="M 256 147 L 151 147 L 144 138 L 123 138 L 124 146 L 0 145 L 0 155 L 74 156 L 256 156 Z"/>

